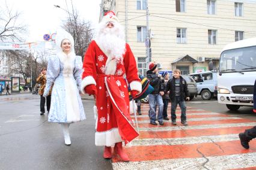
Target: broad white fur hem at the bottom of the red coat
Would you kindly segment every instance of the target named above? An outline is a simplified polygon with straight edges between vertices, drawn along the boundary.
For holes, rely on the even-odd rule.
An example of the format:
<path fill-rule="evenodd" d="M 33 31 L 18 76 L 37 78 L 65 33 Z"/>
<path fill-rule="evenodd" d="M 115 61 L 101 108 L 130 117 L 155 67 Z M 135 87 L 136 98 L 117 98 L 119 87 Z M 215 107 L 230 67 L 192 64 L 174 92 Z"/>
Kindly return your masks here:
<path fill-rule="evenodd" d="M 117 142 L 123 141 L 118 132 L 118 128 L 113 128 L 105 132 L 95 133 L 95 145 L 111 147 Z"/>

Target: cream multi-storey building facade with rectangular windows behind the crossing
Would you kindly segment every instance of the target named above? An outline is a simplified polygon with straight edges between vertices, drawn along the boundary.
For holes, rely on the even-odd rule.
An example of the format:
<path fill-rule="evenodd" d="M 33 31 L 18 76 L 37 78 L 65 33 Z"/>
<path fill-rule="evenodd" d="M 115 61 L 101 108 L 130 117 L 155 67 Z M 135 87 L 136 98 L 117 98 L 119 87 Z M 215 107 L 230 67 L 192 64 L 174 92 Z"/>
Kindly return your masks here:
<path fill-rule="evenodd" d="M 143 73 L 147 3 L 151 60 L 162 70 L 207 71 L 210 61 L 218 68 L 226 44 L 256 37 L 255 0 L 102 0 L 100 19 L 109 10 L 117 14 Z"/>

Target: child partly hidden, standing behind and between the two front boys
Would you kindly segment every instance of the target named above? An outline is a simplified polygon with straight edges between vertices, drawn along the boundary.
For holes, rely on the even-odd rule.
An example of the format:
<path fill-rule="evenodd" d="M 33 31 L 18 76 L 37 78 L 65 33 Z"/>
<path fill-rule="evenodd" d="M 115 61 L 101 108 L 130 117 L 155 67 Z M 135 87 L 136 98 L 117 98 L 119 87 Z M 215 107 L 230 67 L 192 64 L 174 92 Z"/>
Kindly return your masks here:
<path fill-rule="evenodd" d="M 166 89 L 166 84 L 168 81 L 169 81 L 169 74 L 167 71 L 163 71 L 162 72 L 162 82 L 163 82 L 165 89 Z M 168 109 L 168 103 L 169 103 L 170 98 L 166 91 L 165 91 L 165 95 L 163 95 L 162 98 L 163 98 L 163 119 L 169 120 L 168 114 L 167 114 L 167 109 Z"/>

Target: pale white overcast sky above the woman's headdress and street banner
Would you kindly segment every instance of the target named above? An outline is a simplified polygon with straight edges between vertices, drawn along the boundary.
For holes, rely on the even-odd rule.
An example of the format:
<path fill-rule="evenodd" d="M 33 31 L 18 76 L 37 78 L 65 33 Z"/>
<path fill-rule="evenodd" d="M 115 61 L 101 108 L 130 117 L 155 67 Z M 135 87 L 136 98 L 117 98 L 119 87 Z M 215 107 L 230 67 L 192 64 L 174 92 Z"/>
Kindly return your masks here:
<path fill-rule="evenodd" d="M 67 5 L 66 5 L 67 2 Z M 27 42 L 44 41 L 44 34 L 52 34 L 61 26 L 68 14 L 61 8 L 72 11 L 72 0 L 0 0 L 13 11 L 22 13 L 20 21 L 28 25 Z M 73 0 L 73 7 L 82 19 L 91 21 L 93 28 L 99 22 L 100 0 Z M 53 5 L 59 5 L 56 8 Z"/>

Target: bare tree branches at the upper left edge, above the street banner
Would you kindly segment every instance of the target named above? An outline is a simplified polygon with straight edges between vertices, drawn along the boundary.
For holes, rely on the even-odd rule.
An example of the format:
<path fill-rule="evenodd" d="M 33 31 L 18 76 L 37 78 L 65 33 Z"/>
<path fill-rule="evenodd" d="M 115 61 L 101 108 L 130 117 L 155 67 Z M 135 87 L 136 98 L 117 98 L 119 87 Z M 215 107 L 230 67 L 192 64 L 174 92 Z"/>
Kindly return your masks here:
<path fill-rule="evenodd" d="M 3 5 L 1 5 L 3 6 Z M 0 41 L 22 40 L 22 33 L 26 32 L 26 26 L 20 22 L 19 12 L 13 12 L 6 2 L 0 7 Z"/>

